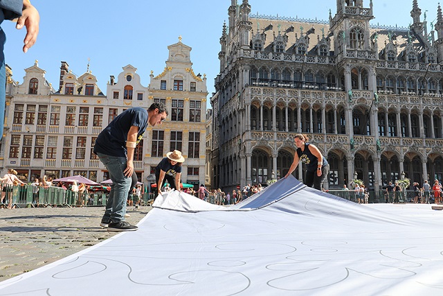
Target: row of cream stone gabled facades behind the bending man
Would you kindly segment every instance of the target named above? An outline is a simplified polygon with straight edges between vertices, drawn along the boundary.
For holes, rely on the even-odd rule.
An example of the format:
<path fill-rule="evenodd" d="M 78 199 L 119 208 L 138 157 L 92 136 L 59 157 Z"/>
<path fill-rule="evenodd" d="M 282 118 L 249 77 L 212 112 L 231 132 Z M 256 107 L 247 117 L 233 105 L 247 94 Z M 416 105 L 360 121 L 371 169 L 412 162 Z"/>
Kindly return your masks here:
<path fill-rule="evenodd" d="M 91 71 L 77 77 L 66 62 L 60 68 L 59 89 L 46 81 L 46 71 L 37 61 L 25 69 L 21 84 L 12 80 L 8 68 L 1 175 L 15 168 L 24 182 L 43 175 L 106 180 L 109 174 L 93 153 L 97 135 L 124 110 L 161 101 L 169 116 L 163 124 L 149 126 L 138 143 L 134 155 L 138 180 L 147 186 L 155 183 L 156 165 L 170 150 L 179 149 L 186 157 L 182 181 L 204 183 L 206 77 L 194 73 L 191 48 L 179 40 L 168 46 L 165 69 L 157 76 L 151 73 L 150 85 L 141 85 L 141 76 L 129 64 L 117 78 L 111 76 L 106 95 Z"/>

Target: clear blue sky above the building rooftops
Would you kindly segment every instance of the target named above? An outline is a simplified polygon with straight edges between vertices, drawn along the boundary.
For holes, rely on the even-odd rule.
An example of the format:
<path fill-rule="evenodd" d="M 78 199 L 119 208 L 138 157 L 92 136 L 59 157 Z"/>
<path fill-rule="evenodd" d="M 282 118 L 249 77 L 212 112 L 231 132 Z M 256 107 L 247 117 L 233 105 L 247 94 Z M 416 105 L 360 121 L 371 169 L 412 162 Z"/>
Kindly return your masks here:
<path fill-rule="evenodd" d="M 13 78 L 23 82 L 24 69 L 39 61 L 46 70 L 46 80 L 57 89 L 60 61 L 66 61 L 77 76 L 89 69 L 106 92 L 110 75 L 118 76 L 127 64 L 138 69 L 142 85 L 150 83 L 150 71 L 159 74 L 168 59 L 168 46 L 182 42 L 190 47 L 192 69 L 206 73 L 208 101 L 214 92 L 214 78 L 219 73 L 219 38 L 223 22 L 228 22 L 230 0 L 208 1 L 104 1 L 77 0 L 32 1 L 40 12 L 40 33 L 37 43 L 23 53 L 24 29 L 17 31 L 15 23 L 4 21 L 6 31 L 6 64 L 12 67 Z M 238 0 L 242 3 L 242 0 Z M 369 7 L 364 0 L 364 7 Z M 399 3 L 401 2 L 401 5 Z M 373 0 L 372 24 L 408 26 L 412 20 L 413 0 Z M 427 20 L 437 15 L 438 0 L 418 0 Z M 252 13 L 284 17 L 327 20 L 329 9 L 336 12 L 334 0 L 249 0 Z M 311 6 L 309 6 L 310 4 Z M 435 24 L 435 21 L 434 21 Z"/>

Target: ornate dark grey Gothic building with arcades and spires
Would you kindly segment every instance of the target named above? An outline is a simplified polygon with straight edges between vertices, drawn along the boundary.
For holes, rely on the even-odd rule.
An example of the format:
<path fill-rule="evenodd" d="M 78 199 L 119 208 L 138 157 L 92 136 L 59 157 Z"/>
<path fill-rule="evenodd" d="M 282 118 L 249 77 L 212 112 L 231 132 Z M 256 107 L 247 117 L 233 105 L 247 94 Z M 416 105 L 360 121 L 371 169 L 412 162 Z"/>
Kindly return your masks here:
<path fill-rule="evenodd" d="M 236 2 L 211 98 L 213 186 L 284 176 L 299 132 L 327 157 L 329 189 L 354 176 L 376 190 L 401 175 L 442 180 L 440 5 L 429 26 L 414 0 L 399 28 L 370 25 L 372 0 L 337 0 L 329 21 L 251 15 L 248 0 Z"/>

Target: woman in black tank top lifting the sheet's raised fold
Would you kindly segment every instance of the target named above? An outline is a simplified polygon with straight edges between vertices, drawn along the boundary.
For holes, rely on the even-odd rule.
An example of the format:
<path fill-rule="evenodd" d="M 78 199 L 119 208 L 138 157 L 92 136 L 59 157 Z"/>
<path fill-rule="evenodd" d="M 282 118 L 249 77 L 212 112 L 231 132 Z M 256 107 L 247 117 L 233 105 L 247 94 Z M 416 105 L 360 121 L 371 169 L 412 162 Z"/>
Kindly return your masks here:
<path fill-rule="evenodd" d="M 323 182 L 325 182 L 329 173 L 329 164 L 326 158 L 320 153 L 320 150 L 313 145 L 307 143 L 309 138 L 305 134 L 296 134 L 294 141 L 297 146 L 296 153 L 293 155 L 293 162 L 289 168 L 285 178 L 297 168 L 299 162 L 306 164 L 305 184 L 309 187 L 314 186 L 315 189 L 322 190 Z"/>

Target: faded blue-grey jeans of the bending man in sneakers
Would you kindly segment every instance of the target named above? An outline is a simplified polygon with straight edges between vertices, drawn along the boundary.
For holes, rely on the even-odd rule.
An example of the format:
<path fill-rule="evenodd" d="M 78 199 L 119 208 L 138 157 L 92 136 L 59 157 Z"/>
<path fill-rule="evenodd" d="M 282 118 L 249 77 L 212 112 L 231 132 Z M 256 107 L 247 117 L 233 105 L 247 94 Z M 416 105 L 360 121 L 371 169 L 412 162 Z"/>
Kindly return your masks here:
<path fill-rule="evenodd" d="M 126 200 L 131 187 L 132 178 L 126 177 L 123 171 L 126 169 L 126 157 L 118 157 L 97 153 L 100 162 L 105 164 L 111 177 L 111 192 L 106 203 L 105 215 L 102 221 L 118 223 L 125 220 Z"/>

